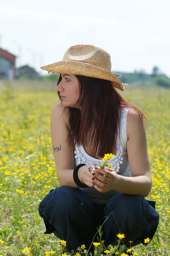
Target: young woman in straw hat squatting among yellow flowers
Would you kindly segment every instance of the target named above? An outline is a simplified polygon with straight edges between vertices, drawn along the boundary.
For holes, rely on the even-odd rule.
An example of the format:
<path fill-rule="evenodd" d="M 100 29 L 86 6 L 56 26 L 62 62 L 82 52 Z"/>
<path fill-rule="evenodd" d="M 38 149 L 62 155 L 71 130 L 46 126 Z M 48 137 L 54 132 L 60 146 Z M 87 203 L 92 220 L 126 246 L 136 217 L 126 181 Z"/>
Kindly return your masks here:
<path fill-rule="evenodd" d="M 144 199 L 152 186 L 144 115 L 118 93 L 124 84 L 111 73 L 108 52 L 93 45 L 70 47 L 62 59 L 42 67 L 60 73 L 61 102 L 51 113 L 51 141 L 59 187 L 41 201 L 46 234 L 67 249 L 88 249 L 103 225 L 105 245 L 125 234 L 127 247 L 144 244 L 156 232 L 155 202 Z M 111 169 L 101 169 L 105 154 Z M 97 241 L 97 240 L 95 240 Z"/>

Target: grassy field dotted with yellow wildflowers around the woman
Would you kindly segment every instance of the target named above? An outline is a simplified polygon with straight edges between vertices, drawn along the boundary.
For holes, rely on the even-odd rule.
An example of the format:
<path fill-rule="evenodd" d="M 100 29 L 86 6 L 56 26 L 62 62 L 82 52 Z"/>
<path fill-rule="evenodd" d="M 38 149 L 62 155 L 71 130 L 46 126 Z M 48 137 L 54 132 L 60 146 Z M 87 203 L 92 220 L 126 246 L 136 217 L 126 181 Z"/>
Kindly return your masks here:
<path fill-rule="evenodd" d="M 58 256 L 65 252 L 64 241 L 61 243 L 53 234 L 43 234 L 45 226 L 38 214 L 39 202 L 51 189 L 59 186 L 50 137 L 51 110 L 59 100 L 55 85 L 16 81 L 0 84 L 2 256 Z M 139 108 L 148 120 L 146 131 L 153 187 L 147 198 L 156 201 L 156 210 L 160 215 L 153 241 L 147 246 L 140 244 L 134 247 L 136 254 L 131 255 L 168 256 L 170 90 L 129 87 L 124 97 Z M 106 253 L 103 252 L 103 255 Z"/>

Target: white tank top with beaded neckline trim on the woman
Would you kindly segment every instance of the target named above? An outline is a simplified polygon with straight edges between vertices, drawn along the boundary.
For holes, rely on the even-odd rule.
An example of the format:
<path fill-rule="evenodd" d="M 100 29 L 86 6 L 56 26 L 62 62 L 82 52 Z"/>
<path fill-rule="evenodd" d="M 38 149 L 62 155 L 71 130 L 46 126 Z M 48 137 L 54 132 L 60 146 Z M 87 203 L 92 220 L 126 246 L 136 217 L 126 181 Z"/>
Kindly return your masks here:
<path fill-rule="evenodd" d="M 123 108 L 119 110 L 119 118 L 120 118 L 120 137 L 117 137 L 117 143 L 116 143 L 116 155 L 111 158 L 108 161 L 108 164 L 113 165 L 113 169 L 122 176 L 126 177 L 132 177 L 129 162 L 128 162 L 128 156 L 127 156 L 127 113 L 130 108 Z M 110 152 L 106 152 L 108 154 Z M 103 163 L 103 160 L 96 159 L 94 157 L 89 156 L 83 146 L 77 146 L 75 145 L 75 151 L 74 151 L 74 157 L 75 157 L 75 167 L 79 165 L 80 163 L 90 164 L 90 163 L 96 163 L 99 165 L 98 161 L 100 163 Z M 109 192 L 99 192 L 94 187 L 87 187 L 85 189 L 80 188 L 84 190 L 88 195 L 90 195 L 91 199 L 94 201 L 95 204 L 106 204 L 113 195 L 118 193 L 116 190 L 112 189 Z"/>

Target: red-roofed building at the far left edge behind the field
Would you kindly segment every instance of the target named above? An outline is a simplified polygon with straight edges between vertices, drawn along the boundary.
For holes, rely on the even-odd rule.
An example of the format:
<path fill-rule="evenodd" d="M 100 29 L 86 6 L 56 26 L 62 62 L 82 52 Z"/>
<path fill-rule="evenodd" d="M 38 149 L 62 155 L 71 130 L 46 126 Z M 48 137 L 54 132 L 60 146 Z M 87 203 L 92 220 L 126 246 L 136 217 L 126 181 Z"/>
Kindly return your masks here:
<path fill-rule="evenodd" d="M 0 79 L 15 78 L 15 59 L 15 55 L 0 48 Z"/>

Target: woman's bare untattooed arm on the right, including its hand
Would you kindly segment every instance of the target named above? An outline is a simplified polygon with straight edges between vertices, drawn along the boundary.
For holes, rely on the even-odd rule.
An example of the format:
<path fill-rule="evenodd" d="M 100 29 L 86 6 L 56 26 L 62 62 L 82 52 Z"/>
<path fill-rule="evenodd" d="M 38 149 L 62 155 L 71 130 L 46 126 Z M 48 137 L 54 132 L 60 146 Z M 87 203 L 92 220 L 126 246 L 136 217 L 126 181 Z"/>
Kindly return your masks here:
<path fill-rule="evenodd" d="M 127 140 L 127 154 L 132 177 L 118 175 L 113 169 L 110 169 L 113 172 L 109 176 L 109 172 L 106 171 L 108 168 L 105 170 L 99 168 L 95 174 L 94 187 L 100 192 L 106 192 L 105 189 L 115 189 L 125 194 L 145 197 L 152 187 L 150 160 L 144 123 L 133 110 L 127 114 Z"/>

